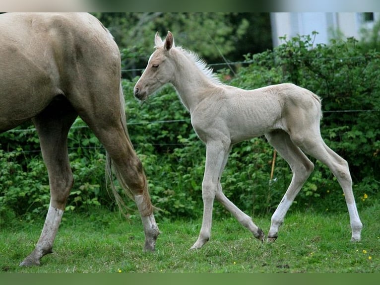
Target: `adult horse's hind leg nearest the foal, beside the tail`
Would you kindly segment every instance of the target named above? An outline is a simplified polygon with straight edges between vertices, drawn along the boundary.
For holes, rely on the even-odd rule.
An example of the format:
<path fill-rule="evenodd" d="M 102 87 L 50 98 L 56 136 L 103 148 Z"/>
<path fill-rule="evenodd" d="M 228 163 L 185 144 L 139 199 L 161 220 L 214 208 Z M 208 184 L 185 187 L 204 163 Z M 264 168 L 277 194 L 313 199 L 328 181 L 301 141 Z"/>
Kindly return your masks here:
<path fill-rule="evenodd" d="M 160 231 L 154 218 L 142 163 L 130 142 L 125 117 L 119 113 L 121 108 L 124 112 L 124 105 L 120 106 L 120 103 L 124 104 L 124 101 L 119 98 L 112 100 L 111 96 L 97 98 L 109 100 L 101 104 L 104 109 L 101 115 L 96 116 L 92 112 L 81 112 L 79 115 L 104 145 L 122 188 L 137 205 L 145 234 L 144 251 L 154 251 Z M 115 191 L 114 194 L 116 194 Z M 116 198 L 118 198 L 117 194 Z"/>

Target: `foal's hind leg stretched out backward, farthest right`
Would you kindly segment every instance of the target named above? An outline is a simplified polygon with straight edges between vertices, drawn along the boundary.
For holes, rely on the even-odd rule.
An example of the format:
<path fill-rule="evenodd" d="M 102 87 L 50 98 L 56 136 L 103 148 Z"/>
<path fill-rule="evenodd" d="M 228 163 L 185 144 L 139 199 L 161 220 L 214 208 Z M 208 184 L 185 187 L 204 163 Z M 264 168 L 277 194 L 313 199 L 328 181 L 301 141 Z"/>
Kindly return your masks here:
<path fill-rule="evenodd" d="M 311 139 L 314 138 L 314 139 Z M 363 224 L 356 208 L 354 193 L 352 191 L 352 179 L 348 163 L 336 152 L 329 148 L 320 137 L 320 134 L 305 134 L 303 139 L 296 139 L 299 146 L 308 154 L 314 156 L 325 164 L 337 178 L 343 189 L 344 197 L 350 215 L 352 230 L 351 241 L 360 241 Z"/>

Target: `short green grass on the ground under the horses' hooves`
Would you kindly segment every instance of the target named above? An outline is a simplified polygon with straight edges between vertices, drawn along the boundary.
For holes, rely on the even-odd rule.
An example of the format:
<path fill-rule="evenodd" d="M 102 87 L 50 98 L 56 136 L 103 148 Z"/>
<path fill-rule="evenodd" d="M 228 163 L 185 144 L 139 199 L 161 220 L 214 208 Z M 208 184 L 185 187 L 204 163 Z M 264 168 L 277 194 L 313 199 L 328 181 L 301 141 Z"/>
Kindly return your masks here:
<path fill-rule="evenodd" d="M 8 273 L 376 273 L 380 269 L 380 205 L 360 211 L 362 241 L 351 243 L 348 213 L 291 211 L 276 242 L 260 243 L 234 218 L 216 217 L 210 241 L 189 251 L 201 220 L 161 221 L 154 253 L 142 252 L 138 216 L 65 213 L 54 253 L 41 266 L 18 264 L 33 250 L 43 220 L 0 230 L 0 272 Z M 270 216 L 254 218 L 264 232 Z"/>

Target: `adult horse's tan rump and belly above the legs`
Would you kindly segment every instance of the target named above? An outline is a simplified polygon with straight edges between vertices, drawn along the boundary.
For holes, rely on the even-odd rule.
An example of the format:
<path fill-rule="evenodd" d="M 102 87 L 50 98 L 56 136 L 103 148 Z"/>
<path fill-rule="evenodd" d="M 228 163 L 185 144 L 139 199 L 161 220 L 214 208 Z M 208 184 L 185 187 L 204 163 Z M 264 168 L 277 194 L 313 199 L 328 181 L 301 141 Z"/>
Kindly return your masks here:
<path fill-rule="evenodd" d="M 120 83 L 118 46 L 88 13 L 1 14 L 0 38 L 0 131 L 34 117 L 57 95 L 79 104 L 74 94 L 85 88 Z"/>

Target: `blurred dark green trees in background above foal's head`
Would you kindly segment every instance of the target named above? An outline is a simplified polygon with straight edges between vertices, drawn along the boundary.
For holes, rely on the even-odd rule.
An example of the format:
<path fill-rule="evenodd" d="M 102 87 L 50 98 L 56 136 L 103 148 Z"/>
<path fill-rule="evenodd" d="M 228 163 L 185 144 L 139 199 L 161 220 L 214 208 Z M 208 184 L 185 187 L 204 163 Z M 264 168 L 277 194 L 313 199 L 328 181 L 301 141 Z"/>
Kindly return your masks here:
<path fill-rule="evenodd" d="M 240 61 L 241 55 L 257 53 L 272 45 L 269 13 L 93 13 L 123 47 L 123 77 L 131 79 L 145 68 L 157 31 L 178 35 L 177 45 L 196 50 L 207 62 Z M 196 31 L 196 32 L 194 32 Z M 131 40 L 133 39 L 133 40 Z"/>

